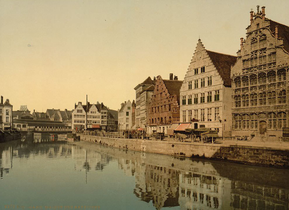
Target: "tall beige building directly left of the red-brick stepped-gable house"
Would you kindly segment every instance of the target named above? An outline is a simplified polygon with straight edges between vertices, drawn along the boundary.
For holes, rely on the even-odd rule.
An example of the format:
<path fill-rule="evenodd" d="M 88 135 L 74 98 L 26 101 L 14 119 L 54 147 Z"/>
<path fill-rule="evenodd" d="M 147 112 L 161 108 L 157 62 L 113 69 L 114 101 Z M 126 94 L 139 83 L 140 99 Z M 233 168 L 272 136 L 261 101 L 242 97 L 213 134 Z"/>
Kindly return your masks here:
<path fill-rule="evenodd" d="M 135 89 L 135 127 L 145 128 L 147 121 L 147 103 L 152 98 L 155 78 L 152 80 L 148 77 L 142 83 L 138 84 Z"/>

